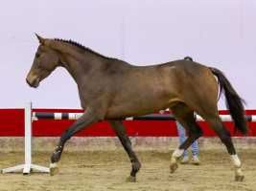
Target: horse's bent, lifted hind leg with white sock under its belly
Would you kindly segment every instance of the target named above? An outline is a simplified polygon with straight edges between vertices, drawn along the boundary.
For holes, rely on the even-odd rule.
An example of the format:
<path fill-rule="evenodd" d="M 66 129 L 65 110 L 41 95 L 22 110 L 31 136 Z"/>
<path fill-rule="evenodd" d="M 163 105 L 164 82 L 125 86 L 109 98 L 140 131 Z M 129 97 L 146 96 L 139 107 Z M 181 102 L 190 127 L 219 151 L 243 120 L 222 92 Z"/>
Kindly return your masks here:
<path fill-rule="evenodd" d="M 184 103 L 177 103 L 175 106 L 171 107 L 171 110 L 175 118 L 188 133 L 187 139 L 172 153 L 170 171 L 173 173 L 178 167 L 177 159 L 183 154 L 184 150 L 202 135 L 202 130 L 195 120 L 194 111 Z"/>

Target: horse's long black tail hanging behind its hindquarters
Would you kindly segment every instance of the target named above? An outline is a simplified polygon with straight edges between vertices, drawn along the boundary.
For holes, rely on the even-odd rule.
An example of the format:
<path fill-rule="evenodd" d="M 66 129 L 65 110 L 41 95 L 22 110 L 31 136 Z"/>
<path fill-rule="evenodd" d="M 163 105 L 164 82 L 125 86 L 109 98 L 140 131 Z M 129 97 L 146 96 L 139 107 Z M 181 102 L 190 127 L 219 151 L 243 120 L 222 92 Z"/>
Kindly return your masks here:
<path fill-rule="evenodd" d="M 230 110 L 230 114 L 235 123 L 235 128 L 240 130 L 243 134 L 248 131 L 245 112 L 244 100 L 237 94 L 225 75 L 216 68 L 210 68 L 212 73 L 217 76 L 220 85 L 220 94 L 225 91 L 226 105 Z"/>

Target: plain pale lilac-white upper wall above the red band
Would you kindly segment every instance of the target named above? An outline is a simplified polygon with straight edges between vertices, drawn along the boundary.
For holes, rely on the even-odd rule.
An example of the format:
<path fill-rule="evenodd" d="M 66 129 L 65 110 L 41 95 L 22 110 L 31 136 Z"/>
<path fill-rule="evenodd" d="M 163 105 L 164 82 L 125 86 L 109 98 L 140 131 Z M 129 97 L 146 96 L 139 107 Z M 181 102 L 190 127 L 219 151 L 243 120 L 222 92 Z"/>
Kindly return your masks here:
<path fill-rule="evenodd" d="M 0 107 L 80 107 L 76 84 L 57 69 L 38 89 L 25 77 L 46 38 L 73 39 L 106 56 L 150 65 L 191 56 L 223 70 L 256 108 L 256 1 L 94 0 L 0 2 Z M 220 102 L 220 108 L 225 108 Z"/>

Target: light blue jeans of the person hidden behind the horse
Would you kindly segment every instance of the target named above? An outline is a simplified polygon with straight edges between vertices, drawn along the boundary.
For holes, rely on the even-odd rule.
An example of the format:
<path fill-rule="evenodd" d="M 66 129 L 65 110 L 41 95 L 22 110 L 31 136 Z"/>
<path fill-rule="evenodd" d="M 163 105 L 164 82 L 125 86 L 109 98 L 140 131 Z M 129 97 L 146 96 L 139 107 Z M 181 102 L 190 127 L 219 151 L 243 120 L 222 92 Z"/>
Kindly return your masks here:
<path fill-rule="evenodd" d="M 182 144 L 183 142 L 185 142 L 185 140 L 187 138 L 186 131 L 185 131 L 184 127 L 178 121 L 176 121 L 176 125 L 177 125 L 177 129 L 178 129 L 179 142 L 180 142 L 180 144 Z M 198 156 L 199 147 L 198 147 L 197 140 L 195 140 L 194 143 L 191 144 L 191 152 L 192 152 L 193 156 Z M 187 150 L 184 150 L 183 156 L 184 157 L 188 156 Z"/>

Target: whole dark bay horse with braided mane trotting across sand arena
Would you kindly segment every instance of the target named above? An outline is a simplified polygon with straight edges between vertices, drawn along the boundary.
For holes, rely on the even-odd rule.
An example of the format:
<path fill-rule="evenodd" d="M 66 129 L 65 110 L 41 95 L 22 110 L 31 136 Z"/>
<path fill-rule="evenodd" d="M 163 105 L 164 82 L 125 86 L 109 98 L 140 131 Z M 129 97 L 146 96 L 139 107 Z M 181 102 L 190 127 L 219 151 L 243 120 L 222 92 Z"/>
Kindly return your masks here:
<path fill-rule="evenodd" d="M 177 168 L 177 159 L 191 143 L 202 135 L 194 112 L 208 121 L 227 147 L 235 167 L 235 180 L 242 181 L 241 162 L 230 133 L 223 126 L 217 109 L 218 92 L 224 91 L 235 127 L 247 132 L 242 99 L 224 74 L 216 69 L 182 59 L 153 66 L 133 66 L 108 58 L 74 41 L 44 39 L 37 35 L 39 47 L 26 81 L 38 87 L 56 67 L 68 70 L 78 86 L 85 112 L 60 137 L 51 155 L 50 173 L 58 171 L 64 145 L 75 133 L 101 120 L 108 120 L 131 160 L 129 181 L 136 180 L 141 164 L 126 135 L 122 119 L 169 108 L 186 128 L 188 138 L 172 154 L 170 170 Z M 218 78 L 218 81 L 215 79 Z"/>

